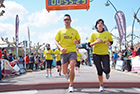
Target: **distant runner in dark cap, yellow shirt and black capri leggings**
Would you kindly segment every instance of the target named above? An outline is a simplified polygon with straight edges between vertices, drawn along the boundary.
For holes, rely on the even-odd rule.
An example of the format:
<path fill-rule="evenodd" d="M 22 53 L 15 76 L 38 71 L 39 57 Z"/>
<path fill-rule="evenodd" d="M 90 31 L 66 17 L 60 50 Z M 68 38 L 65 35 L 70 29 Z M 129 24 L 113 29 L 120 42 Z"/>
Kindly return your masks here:
<path fill-rule="evenodd" d="M 54 52 L 50 48 L 50 44 L 46 44 L 46 50 L 44 51 L 45 60 L 46 60 L 44 63 L 47 63 L 46 77 L 49 77 L 49 70 L 50 70 L 50 77 L 52 77 L 51 69 L 52 69 L 52 62 L 53 62 L 53 54 L 54 54 Z"/>

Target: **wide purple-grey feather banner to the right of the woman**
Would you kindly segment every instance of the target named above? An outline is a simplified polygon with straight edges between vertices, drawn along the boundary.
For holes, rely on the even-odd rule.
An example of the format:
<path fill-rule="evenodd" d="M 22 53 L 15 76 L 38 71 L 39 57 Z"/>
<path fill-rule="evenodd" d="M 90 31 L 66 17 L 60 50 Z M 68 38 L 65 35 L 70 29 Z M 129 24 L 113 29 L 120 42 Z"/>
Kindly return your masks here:
<path fill-rule="evenodd" d="M 115 14 L 115 20 L 117 23 L 121 44 L 125 46 L 126 45 L 126 22 L 125 22 L 124 13 L 122 11 L 118 11 Z"/>

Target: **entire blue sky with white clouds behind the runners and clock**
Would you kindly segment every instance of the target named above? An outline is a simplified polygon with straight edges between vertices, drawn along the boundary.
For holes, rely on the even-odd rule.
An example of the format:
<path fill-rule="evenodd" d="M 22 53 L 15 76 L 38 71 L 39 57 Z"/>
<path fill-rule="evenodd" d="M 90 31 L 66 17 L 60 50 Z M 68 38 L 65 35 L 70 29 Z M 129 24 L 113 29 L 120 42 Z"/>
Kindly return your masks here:
<path fill-rule="evenodd" d="M 58 30 L 64 27 L 63 16 L 68 13 L 72 17 L 71 26 L 76 28 L 81 36 L 81 42 L 86 42 L 93 32 L 92 27 L 98 19 L 103 19 L 108 30 L 111 31 L 116 25 L 114 15 L 116 11 L 110 6 L 105 6 L 107 0 L 93 0 L 90 8 L 83 10 L 46 10 L 45 0 L 5 0 L 5 14 L 0 17 L 0 37 L 8 37 L 9 41 L 15 37 L 15 17 L 18 14 L 20 20 L 19 41 L 28 40 L 27 27 L 30 28 L 31 41 L 50 43 L 55 48 L 54 38 Z M 118 11 L 123 11 L 126 19 L 127 35 L 132 32 L 133 14 L 140 7 L 140 0 L 110 0 Z M 1 8 L 2 9 L 2 8 Z M 137 15 L 140 18 L 140 13 Z M 139 36 L 140 24 L 135 21 L 134 34 Z M 117 29 L 112 33 L 118 35 Z M 127 38 L 130 40 L 131 37 Z M 114 39 L 114 41 L 116 41 Z M 138 42 L 135 39 L 134 42 Z M 2 43 L 2 41 L 0 40 Z M 116 42 L 117 43 L 117 42 Z M 114 43 L 114 46 L 117 45 Z M 33 45 L 32 44 L 32 45 Z"/>

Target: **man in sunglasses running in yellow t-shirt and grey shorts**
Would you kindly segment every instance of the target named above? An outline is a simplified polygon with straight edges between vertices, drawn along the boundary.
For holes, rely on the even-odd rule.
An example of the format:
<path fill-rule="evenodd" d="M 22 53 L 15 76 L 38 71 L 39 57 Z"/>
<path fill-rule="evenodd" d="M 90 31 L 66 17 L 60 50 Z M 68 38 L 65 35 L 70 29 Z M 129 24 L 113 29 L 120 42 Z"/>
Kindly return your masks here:
<path fill-rule="evenodd" d="M 61 64 L 63 74 L 70 79 L 69 92 L 73 92 L 73 81 L 75 77 L 75 63 L 77 59 L 76 44 L 80 44 L 80 36 L 76 29 L 71 27 L 71 17 L 69 14 L 64 15 L 65 27 L 60 29 L 55 37 L 55 44 L 62 52 Z M 70 65 L 68 69 L 68 65 Z"/>

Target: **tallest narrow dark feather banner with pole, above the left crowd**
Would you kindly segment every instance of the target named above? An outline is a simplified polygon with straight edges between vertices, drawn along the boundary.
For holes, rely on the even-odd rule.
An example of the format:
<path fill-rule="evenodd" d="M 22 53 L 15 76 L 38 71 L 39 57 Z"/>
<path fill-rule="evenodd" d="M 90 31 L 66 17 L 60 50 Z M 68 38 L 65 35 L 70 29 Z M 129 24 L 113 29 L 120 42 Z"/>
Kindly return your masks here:
<path fill-rule="evenodd" d="M 16 58 L 18 58 L 18 41 L 19 41 L 19 17 L 16 15 L 16 25 L 15 25 L 15 38 L 16 38 Z"/>

